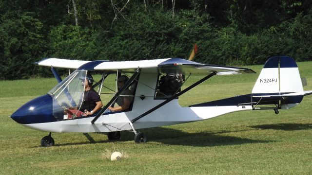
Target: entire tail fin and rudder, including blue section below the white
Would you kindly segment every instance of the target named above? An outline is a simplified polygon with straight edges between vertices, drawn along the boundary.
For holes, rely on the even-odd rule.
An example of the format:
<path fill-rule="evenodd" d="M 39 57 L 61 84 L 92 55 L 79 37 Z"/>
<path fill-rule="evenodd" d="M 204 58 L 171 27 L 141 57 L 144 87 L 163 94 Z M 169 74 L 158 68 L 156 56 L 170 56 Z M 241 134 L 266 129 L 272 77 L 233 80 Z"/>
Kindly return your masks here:
<path fill-rule="evenodd" d="M 289 109 L 305 95 L 296 62 L 288 56 L 274 56 L 265 63 L 254 85 L 252 96 Z M 278 102 L 278 103 L 277 103 Z"/>

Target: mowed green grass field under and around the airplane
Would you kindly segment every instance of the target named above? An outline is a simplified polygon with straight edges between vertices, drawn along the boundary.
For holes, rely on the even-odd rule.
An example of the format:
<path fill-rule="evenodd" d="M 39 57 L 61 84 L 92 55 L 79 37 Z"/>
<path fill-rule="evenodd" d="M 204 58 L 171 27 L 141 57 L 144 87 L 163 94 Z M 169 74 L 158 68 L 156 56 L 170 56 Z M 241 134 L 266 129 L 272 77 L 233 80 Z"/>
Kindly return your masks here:
<path fill-rule="evenodd" d="M 312 62 L 298 67 L 308 81 L 304 89 L 312 90 Z M 249 68 L 257 74 L 214 76 L 182 95 L 179 103 L 187 106 L 251 93 L 262 66 Z M 56 84 L 54 78 L 0 81 L 0 174 L 312 174 L 312 96 L 278 115 L 273 110 L 243 111 L 143 129 L 149 136 L 143 144 L 136 144 L 131 132 L 122 132 L 115 142 L 98 133 L 53 133 L 55 146 L 40 147 L 48 133 L 8 116 Z M 123 151 L 128 157 L 110 161 L 107 150 Z"/>

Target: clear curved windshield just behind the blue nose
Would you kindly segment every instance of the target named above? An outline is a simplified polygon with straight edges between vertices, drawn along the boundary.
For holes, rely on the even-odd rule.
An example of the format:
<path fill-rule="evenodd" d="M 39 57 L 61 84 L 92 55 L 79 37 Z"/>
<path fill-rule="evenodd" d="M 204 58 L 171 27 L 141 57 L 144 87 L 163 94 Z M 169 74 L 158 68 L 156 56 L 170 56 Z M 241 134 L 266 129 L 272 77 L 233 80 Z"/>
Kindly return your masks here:
<path fill-rule="evenodd" d="M 84 93 L 84 81 L 86 78 L 86 70 L 75 70 L 61 83 L 48 92 L 53 97 L 53 114 L 58 121 L 67 119 L 64 110 L 69 107 L 77 107 L 79 109 L 81 103 L 79 101 Z"/>

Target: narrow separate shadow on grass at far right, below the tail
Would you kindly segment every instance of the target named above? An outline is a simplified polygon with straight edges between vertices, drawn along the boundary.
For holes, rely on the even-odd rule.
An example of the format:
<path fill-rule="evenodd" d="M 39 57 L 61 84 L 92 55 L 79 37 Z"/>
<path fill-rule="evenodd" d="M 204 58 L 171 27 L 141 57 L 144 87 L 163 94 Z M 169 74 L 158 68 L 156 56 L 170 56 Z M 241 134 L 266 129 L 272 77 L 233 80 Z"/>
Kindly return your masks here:
<path fill-rule="evenodd" d="M 255 126 L 249 126 L 257 129 L 275 129 L 284 131 L 295 131 L 295 130 L 308 130 L 312 129 L 312 123 L 276 123 L 276 124 L 261 124 Z"/>

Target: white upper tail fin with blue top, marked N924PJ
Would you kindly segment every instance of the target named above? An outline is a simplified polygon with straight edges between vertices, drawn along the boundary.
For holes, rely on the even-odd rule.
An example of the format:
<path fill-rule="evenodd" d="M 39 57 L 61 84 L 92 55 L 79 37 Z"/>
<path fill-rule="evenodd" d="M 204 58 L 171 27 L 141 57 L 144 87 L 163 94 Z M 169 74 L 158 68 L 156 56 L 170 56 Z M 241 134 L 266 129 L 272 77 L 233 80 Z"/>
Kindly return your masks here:
<path fill-rule="evenodd" d="M 288 56 L 274 56 L 265 63 L 252 94 L 301 92 L 302 82 L 296 62 Z"/>

